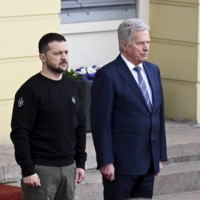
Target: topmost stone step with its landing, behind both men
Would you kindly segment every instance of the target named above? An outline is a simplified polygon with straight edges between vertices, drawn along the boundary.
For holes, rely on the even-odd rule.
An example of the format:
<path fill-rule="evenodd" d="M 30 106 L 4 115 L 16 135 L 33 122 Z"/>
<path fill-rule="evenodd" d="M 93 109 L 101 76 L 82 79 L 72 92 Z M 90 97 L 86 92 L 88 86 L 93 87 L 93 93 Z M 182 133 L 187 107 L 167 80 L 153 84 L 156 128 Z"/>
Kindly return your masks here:
<path fill-rule="evenodd" d="M 200 160 L 200 125 L 166 121 L 169 163 Z M 91 133 L 87 134 L 86 170 L 96 168 L 96 154 Z M 6 172 L 6 174 L 5 174 Z M 9 173 L 9 174 L 7 174 Z M 13 179 L 12 179 L 13 177 Z M 20 168 L 14 158 L 13 145 L 0 146 L 0 183 L 19 180 Z"/>

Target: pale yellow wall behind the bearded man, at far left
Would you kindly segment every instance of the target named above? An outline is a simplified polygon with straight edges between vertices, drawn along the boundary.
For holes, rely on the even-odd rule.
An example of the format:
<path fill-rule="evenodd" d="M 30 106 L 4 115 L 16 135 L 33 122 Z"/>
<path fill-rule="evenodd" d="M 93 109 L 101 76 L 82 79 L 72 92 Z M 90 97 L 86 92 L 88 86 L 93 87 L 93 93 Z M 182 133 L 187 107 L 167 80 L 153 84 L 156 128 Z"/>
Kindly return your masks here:
<path fill-rule="evenodd" d="M 60 0 L 0 0 L 0 145 L 11 143 L 14 94 L 40 71 L 38 40 L 47 32 L 60 32 L 59 12 Z"/>

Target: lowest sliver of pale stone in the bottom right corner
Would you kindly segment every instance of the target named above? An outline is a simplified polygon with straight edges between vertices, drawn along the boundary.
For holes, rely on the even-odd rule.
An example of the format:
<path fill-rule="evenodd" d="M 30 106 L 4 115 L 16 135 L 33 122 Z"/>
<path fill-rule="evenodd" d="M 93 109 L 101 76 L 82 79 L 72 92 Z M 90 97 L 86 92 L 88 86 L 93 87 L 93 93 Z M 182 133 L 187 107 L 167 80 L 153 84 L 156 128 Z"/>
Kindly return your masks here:
<path fill-rule="evenodd" d="M 200 190 L 193 192 L 184 192 L 172 195 L 154 196 L 153 200 L 199 200 Z"/>

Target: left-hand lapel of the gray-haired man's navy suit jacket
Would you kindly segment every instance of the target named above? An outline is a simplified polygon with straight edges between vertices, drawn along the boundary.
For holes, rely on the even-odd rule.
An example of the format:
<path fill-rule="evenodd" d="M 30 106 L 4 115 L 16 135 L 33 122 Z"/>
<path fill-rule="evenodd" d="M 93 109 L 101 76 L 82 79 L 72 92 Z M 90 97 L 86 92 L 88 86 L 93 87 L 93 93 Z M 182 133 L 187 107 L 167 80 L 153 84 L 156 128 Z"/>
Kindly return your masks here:
<path fill-rule="evenodd" d="M 140 90 L 135 78 L 131 74 L 128 66 L 126 65 L 124 60 L 121 58 L 121 55 L 119 55 L 117 57 L 117 59 L 115 60 L 115 63 L 117 64 L 117 67 L 116 67 L 117 70 L 122 75 L 122 77 L 124 78 L 125 82 L 130 86 L 130 88 L 135 92 L 135 94 L 138 96 L 140 101 L 148 109 L 148 106 L 147 106 L 147 103 L 146 103 L 146 101 L 144 99 L 144 96 L 143 96 L 143 94 L 142 94 L 142 92 L 141 92 L 141 90 Z"/>

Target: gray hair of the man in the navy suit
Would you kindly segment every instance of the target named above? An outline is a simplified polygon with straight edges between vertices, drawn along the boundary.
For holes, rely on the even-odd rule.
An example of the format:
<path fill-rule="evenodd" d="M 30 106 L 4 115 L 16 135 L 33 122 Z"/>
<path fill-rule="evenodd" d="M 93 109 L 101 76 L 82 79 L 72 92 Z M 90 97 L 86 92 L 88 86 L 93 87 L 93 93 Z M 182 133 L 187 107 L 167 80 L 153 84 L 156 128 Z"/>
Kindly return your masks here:
<path fill-rule="evenodd" d="M 133 33 L 136 31 L 150 31 L 150 28 L 142 20 L 133 18 L 123 21 L 118 28 L 119 51 L 122 52 L 121 42 L 130 44 Z"/>

